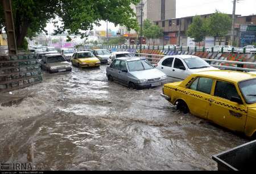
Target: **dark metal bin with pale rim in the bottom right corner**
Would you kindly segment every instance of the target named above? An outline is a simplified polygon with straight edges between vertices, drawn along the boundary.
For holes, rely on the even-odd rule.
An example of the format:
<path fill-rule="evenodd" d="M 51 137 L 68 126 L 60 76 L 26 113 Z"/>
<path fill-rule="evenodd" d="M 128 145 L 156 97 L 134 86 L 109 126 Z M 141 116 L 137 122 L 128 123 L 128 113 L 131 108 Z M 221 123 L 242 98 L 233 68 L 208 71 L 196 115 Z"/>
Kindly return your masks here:
<path fill-rule="evenodd" d="M 256 165 L 256 141 L 246 143 L 212 157 L 218 171 L 251 171 Z"/>

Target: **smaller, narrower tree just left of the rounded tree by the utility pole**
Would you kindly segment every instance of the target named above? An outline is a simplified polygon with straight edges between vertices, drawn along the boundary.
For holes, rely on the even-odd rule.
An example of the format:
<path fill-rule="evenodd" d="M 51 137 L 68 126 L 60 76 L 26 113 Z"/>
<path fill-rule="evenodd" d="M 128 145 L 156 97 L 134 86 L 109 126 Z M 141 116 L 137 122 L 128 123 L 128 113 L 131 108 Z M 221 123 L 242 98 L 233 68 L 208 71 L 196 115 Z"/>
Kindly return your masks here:
<path fill-rule="evenodd" d="M 193 38 L 193 41 L 199 43 L 200 46 L 200 42 L 205 39 L 206 35 L 205 20 L 200 16 L 195 16 L 192 24 L 188 27 L 187 36 Z"/>

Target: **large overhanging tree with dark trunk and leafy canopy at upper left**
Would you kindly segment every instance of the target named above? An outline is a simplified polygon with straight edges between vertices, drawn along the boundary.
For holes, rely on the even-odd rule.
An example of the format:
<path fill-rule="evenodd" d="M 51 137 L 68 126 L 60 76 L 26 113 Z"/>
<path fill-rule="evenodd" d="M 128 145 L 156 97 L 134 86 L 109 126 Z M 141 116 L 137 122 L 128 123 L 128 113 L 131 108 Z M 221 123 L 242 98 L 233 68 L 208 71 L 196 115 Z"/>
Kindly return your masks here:
<path fill-rule="evenodd" d="M 93 25 L 100 26 L 100 20 L 108 20 L 116 26 L 121 24 L 129 28 L 138 26 L 131 3 L 139 0 L 13 0 L 15 34 L 18 47 L 24 37 L 46 32 L 47 23 L 53 20 L 57 28 L 55 34 L 68 32 L 69 35 L 86 37 Z M 0 5 L 0 9 L 2 5 Z M 0 27 L 3 26 L 3 12 L 0 12 Z M 60 21 L 60 25 L 57 21 Z M 69 38 L 70 39 L 70 38 Z"/>

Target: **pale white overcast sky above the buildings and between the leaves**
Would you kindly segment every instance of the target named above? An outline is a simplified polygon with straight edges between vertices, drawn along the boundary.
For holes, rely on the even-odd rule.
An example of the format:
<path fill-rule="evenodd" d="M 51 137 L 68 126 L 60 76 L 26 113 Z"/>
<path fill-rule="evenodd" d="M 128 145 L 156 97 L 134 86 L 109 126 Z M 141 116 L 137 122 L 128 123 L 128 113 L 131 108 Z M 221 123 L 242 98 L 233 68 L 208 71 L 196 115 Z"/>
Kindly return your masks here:
<path fill-rule="evenodd" d="M 256 0 L 237 0 L 236 14 L 251 15 L 256 14 Z M 215 10 L 232 14 L 232 0 L 176 0 L 176 18 L 185 16 L 203 15 L 213 13 Z M 112 31 L 118 31 L 119 27 L 115 27 L 113 23 L 109 23 L 108 27 Z M 47 30 L 53 31 L 52 24 L 48 24 Z M 100 27 L 94 27 L 96 30 L 106 30 L 106 22 L 102 21 Z"/>

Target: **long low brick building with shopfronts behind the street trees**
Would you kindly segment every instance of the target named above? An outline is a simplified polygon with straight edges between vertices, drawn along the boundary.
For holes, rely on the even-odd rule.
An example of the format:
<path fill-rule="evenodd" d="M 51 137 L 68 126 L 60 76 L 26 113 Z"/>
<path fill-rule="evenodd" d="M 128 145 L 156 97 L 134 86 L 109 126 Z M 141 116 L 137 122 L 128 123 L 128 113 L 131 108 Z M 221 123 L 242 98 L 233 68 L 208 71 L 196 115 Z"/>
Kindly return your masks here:
<path fill-rule="evenodd" d="M 213 14 L 205 14 L 200 15 L 201 18 L 209 18 L 210 15 Z M 232 17 L 231 14 L 229 14 L 230 17 Z M 163 28 L 164 31 L 164 37 L 160 39 L 160 45 L 180 45 L 180 46 L 199 46 L 198 43 L 193 43 L 192 39 L 187 37 L 186 32 L 188 30 L 189 25 L 193 22 L 194 16 L 188 16 L 184 18 L 172 18 L 172 19 L 166 19 L 166 20 L 155 20 L 155 24 L 159 27 Z M 256 15 L 250 15 L 250 16 L 241 16 L 236 15 L 235 20 L 235 40 L 236 45 L 234 46 L 240 46 L 241 45 L 241 25 L 243 24 L 256 24 Z M 242 35 L 243 36 L 243 35 Z M 245 35 L 245 37 L 249 37 L 249 33 Z M 254 35 L 250 35 L 251 40 L 254 40 Z M 205 37 L 205 40 L 200 43 L 202 46 L 213 46 L 218 45 L 219 41 L 221 41 L 221 45 L 230 45 L 231 44 L 231 28 L 228 35 L 225 37 Z M 253 42 L 253 41 L 251 41 Z"/>

